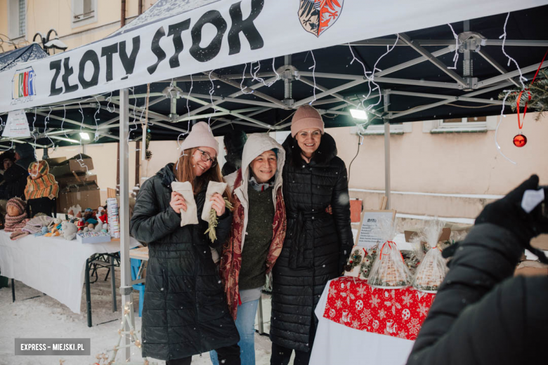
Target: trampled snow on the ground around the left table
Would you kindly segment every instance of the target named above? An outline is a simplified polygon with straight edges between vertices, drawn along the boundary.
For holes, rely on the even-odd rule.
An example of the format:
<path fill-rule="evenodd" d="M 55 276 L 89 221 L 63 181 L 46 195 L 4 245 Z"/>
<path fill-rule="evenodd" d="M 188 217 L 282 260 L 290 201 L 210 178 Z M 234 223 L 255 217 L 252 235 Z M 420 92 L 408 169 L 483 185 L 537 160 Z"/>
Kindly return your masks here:
<path fill-rule="evenodd" d="M 98 281 L 91 284 L 91 313 L 93 326 L 87 326 L 86 296 L 82 290 L 81 314 L 74 314 L 57 300 L 44 296 L 20 281 L 15 281 L 15 303 L 11 300 L 11 288 L 0 289 L 0 365 L 92 365 L 96 354 L 113 347 L 118 340 L 121 324 L 121 298 L 117 293 L 117 312 L 112 312 L 112 291 L 110 277 L 104 281 L 106 270 L 99 271 Z M 117 292 L 119 288 L 119 268 L 116 273 Z M 93 278 L 92 278 L 93 281 Z M 135 325 L 141 331 L 141 318 L 138 317 L 138 292 L 133 292 L 136 308 Z M 37 298 L 32 298 L 37 297 Z M 268 333 L 270 321 L 270 298 L 263 296 L 263 318 Z M 139 337 L 141 337 L 139 335 Z M 91 356 L 15 356 L 15 338 L 91 338 Z M 267 336 L 255 334 L 255 354 L 257 365 L 270 364 L 271 343 Z M 140 352 L 132 347 L 131 360 L 141 360 Z M 117 359 L 122 359 L 119 353 Z M 164 361 L 149 359 L 157 365 Z M 193 365 L 211 364 L 209 354 L 193 357 Z M 290 362 L 292 364 L 292 361 Z"/>

